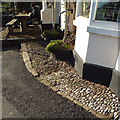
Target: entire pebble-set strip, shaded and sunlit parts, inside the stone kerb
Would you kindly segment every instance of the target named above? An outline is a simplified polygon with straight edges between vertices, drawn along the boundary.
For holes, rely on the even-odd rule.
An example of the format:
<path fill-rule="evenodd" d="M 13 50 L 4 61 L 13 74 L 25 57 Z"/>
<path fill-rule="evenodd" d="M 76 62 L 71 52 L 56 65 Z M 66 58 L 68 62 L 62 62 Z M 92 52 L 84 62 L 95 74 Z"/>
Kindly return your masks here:
<path fill-rule="evenodd" d="M 118 117 L 120 101 L 110 88 L 83 80 L 67 62 L 52 59 L 45 51 L 46 44 L 41 40 L 28 42 L 26 45 L 32 66 L 40 75 L 40 81 L 49 81 L 59 91 L 97 112 Z"/>

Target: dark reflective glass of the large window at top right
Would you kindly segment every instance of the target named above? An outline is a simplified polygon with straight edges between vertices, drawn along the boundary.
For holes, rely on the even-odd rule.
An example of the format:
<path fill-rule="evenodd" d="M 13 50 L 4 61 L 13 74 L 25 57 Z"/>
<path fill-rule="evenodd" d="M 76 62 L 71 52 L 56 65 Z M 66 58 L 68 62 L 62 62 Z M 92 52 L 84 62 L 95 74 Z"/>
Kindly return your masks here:
<path fill-rule="evenodd" d="M 98 2 L 95 19 L 120 22 L 120 2 Z"/>

